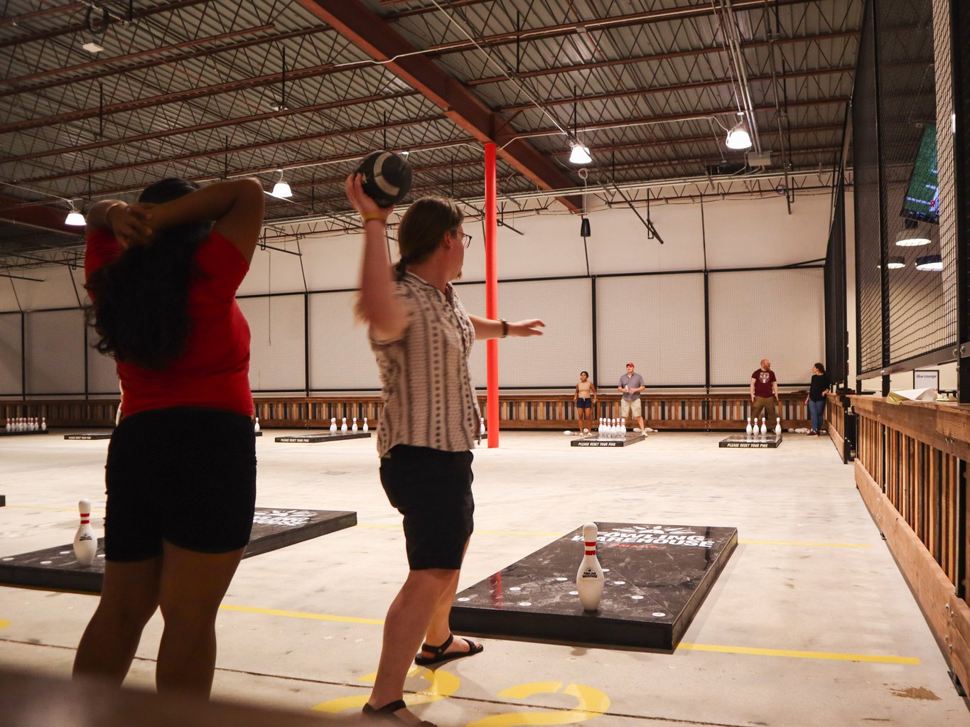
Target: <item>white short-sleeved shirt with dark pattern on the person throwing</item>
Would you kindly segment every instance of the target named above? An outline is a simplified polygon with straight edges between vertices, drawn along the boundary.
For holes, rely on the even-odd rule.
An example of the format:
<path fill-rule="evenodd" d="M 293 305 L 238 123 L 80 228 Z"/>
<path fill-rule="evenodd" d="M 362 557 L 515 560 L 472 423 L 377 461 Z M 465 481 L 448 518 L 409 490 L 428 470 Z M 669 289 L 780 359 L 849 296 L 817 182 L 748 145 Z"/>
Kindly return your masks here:
<path fill-rule="evenodd" d="M 478 401 L 469 375 L 475 329 L 451 283 L 442 293 L 413 273 L 395 284 L 407 314 L 396 341 L 374 341 L 384 400 L 377 451 L 395 445 L 466 451 L 479 427 Z"/>

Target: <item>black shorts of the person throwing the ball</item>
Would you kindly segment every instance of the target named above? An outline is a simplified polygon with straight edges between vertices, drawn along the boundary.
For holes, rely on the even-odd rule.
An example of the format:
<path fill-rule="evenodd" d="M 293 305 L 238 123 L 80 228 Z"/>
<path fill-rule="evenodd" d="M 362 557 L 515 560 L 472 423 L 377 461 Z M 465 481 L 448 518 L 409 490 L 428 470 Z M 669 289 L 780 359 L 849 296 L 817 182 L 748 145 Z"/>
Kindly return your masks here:
<path fill-rule="evenodd" d="M 462 567 L 474 529 L 470 451 L 394 446 L 380 459 L 380 483 L 404 515 L 407 564 L 412 571 Z"/>

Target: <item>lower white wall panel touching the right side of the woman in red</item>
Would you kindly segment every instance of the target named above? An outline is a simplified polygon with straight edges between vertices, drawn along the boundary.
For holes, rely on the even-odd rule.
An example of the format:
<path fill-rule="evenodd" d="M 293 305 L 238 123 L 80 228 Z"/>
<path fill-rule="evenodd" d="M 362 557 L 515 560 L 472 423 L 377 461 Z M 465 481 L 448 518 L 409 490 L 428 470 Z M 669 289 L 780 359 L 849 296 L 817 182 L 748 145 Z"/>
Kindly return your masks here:
<path fill-rule="evenodd" d="M 249 323 L 249 386 L 253 391 L 302 391 L 304 365 L 304 297 L 276 295 L 241 298 Z"/>

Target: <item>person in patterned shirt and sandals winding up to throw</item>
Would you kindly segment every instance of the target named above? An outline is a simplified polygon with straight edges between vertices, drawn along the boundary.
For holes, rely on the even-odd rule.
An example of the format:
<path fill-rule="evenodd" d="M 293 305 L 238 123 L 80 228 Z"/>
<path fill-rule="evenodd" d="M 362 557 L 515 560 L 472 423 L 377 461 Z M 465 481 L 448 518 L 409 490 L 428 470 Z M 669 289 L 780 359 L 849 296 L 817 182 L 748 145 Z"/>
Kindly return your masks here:
<path fill-rule="evenodd" d="M 363 716 L 430 725 L 408 712 L 402 699 L 412 660 L 434 667 L 483 648 L 455 639 L 448 625 L 473 527 L 470 450 L 479 418 L 469 376 L 471 345 L 476 338 L 538 336 L 543 323 L 508 323 L 465 312 L 450 281 L 461 275 L 471 238 L 451 200 L 423 197 L 410 205 L 398 229 L 401 261 L 392 268 L 385 243 L 391 210 L 378 208 L 364 193 L 360 175 L 347 178 L 346 192 L 364 224 L 358 313 L 370 328 L 383 388 L 380 481 L 391 505 L 404 515 L 409 567 L 387 612 Z"/>

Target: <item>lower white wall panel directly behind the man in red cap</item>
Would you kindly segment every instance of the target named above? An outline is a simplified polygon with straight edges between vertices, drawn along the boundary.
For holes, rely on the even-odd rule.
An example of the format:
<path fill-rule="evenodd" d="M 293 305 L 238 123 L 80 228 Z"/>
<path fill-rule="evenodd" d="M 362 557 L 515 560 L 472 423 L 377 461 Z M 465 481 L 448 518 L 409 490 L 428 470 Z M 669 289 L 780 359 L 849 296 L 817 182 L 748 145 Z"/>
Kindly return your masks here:
<path fill-rule="evenodd" d="M 628 361 L 648 386 L 703 386 L 703 275 L 598 279 L 597 340 L 601 386 L 617 386 Z"/>

